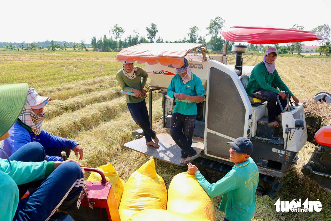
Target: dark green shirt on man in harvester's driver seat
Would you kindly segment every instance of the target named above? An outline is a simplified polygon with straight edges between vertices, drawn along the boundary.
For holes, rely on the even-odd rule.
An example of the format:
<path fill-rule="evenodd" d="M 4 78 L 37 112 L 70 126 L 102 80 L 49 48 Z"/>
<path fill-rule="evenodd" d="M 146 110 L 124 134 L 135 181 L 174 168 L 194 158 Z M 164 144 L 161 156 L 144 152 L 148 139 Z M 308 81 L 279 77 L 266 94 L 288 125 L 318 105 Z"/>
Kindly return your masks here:
<path fill-rule="evenodd" d="M 282 91 L 290 91 L 282 79 L 280 79 L 277 70 L 275 69 L 272 74 L 269 73 L 262 61 L 253 68 L 246 92 L 249 96 L 253 96 L 253 92 L 256 90 L 265 90 L 278 94 L 279 90 L 271 87 L 271 83 Z M 291 91 L 290 95 L 293 95 Z"/>

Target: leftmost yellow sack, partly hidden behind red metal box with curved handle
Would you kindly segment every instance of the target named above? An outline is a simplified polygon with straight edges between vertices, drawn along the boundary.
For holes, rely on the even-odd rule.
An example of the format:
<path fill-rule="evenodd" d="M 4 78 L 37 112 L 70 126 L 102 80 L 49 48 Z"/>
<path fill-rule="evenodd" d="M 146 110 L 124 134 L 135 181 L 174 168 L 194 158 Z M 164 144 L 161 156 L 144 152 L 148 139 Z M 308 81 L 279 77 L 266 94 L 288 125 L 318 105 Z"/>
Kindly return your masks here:
<path fill-rule="evenodd" d="M 112 164 L 103 165 L 103 166 L 97 167 L 96 169 L 101 170 L 104 173 L 106 180 L 113 185 L 114 194 L 115 194 L 115 198 L 116 198 L 116 204 L 117 204 L 117 207 L 119 207 L 119 203 L 121 202 L 122 194 L 124 191 L 125 182 L 119 178 L 118 173 L 116 172 L 116 170 Z M 96 172 L 92 172 L 87 180 L 88 181 L 101 181 L 101 176 L 100 176 L 100 174 L 98 174 Z"/>

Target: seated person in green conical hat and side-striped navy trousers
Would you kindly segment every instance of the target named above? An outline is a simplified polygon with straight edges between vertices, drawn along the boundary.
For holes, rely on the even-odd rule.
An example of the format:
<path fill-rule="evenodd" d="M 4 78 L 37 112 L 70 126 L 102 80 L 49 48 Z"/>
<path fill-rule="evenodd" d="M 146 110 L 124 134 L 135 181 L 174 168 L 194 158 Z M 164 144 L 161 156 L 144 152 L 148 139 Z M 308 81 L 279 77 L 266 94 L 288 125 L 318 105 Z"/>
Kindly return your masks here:
<path fill-rule="evenodd" d="M 0 140 L 10 136 L 8 130 L 22 112 L 27 91 L 27 84 L 0 86 Z M 84 184 L 80 163 L 72 159 L 47 162 L 38 142 L 29 142 L 9 159 L 5 157 L 0 159 L 1 221 L 48 220 L 58 208 L 79 208 Z M 30 187 L 36 190 L 22 199 Z"/>

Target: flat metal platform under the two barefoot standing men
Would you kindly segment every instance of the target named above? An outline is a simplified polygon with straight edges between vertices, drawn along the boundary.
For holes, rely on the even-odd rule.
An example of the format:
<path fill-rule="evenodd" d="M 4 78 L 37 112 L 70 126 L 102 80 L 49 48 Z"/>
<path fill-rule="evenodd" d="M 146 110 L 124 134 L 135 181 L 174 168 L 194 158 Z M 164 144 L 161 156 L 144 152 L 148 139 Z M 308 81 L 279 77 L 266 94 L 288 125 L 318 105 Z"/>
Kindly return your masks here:
<path fill-rule="evenodd" d="M 169 134 L 160 134 L 158 135 L 158 138 L 160 145 L 158 148 L 151 145 L 146 145 L 145 137 L 125 143 L 124 147 L 153 156 L 156 159 L 163 160 L 177 166 L 184 166 L 185 164 L 179 163 L 181 158 L 181 149 L 177 146 L 175 141 L 173 141 L 171 136 Z M 204 140 L 193 138 L 192 147 L 197 151 L 197 154 L 191 158 L 190 162 L 198 158 L 204 151 Z"/>

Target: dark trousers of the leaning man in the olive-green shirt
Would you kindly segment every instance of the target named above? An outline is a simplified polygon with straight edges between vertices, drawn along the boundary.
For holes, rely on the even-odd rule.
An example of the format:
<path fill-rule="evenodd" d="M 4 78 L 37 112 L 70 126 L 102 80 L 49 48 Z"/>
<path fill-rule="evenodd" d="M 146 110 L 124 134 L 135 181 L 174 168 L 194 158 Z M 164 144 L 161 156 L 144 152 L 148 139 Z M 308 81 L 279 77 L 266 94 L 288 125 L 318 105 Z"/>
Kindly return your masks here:
<path fill-rule="evenodd" d="M 145 100 L 139 103 L 126 104 L 134 122 L 143 129 L 146 143 L 152 141 L 152 139 L 154 140 L 155 131 L 151 129 Z"/>

